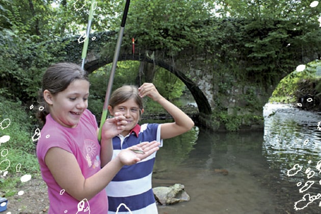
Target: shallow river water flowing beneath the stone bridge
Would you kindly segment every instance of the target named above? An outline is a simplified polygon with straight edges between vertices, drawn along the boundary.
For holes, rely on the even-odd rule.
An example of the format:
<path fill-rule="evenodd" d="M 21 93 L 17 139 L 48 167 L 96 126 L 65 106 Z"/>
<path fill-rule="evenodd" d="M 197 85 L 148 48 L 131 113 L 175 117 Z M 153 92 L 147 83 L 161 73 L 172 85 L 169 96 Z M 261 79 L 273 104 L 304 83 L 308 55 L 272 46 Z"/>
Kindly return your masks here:
<path fill-rule="evenodd" d="M 321 213 L 321 115 L 278 104 L 263 115 L 264 131 L 195 127 L 164 140 L 153 186 L 181 183 L 190 201 L 159 214 Z"/>

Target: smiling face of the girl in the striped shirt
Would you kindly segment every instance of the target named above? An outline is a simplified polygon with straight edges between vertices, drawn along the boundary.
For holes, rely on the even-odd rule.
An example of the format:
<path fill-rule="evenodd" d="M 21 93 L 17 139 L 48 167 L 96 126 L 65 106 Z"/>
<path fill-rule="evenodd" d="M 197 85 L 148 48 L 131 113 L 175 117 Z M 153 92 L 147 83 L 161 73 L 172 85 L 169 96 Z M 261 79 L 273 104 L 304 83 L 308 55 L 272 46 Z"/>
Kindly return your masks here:
<path fill-rule="evenodd" d="M 134 98 L 130 98 L 127 101 L 114 106 L 114 108 L 112 108 L 112 106 L 109 105 L 108 109 L 111 115 L 114 115 L 116 112 L 119 112 L 126 117 L 127 125 L 124 131 L 121 133 L 122 136 L 128 135 L 130 130 L 136 126 L 141 114 L 143 114 L 144 112 L 144 109 L 141 110 L 139 108 L 139 105 L 137 104 Z"/>

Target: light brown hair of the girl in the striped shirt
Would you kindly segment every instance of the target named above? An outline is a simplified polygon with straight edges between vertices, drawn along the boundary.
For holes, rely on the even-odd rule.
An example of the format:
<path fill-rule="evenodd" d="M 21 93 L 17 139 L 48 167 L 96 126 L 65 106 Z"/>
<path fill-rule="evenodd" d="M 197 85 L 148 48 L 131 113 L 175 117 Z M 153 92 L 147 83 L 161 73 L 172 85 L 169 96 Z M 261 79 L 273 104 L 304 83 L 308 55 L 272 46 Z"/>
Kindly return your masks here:
<path fill-rule="evenodd" d="M 116 105 L 126 102 L 128 99 L 133 98 L 139 106 L 139 109 L 142 110 L 143 99 L 138 94 L 138 88 L 136 86 L 122 86 L 116 89 L 110 98 L 109 105 L 114 108 Z"/>

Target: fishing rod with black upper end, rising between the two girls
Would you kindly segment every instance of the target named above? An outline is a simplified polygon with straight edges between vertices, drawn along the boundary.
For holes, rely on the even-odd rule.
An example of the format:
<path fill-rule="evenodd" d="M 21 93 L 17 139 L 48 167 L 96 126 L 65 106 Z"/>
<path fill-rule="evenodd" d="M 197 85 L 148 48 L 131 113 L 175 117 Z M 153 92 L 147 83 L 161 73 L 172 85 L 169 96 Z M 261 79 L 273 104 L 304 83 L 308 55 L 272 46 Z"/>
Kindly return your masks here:
<path fill-rule="evenodd" d="M 109 82 L 108 82 L 108 87 L 107 87 L 107 90 L 106 90 L 105 101 L 103 103 L 103 109 L 102 109 L 102 114 L 101 114 L 99 132 L 98 132 L 98 141 L 101 140 L 101 128 L 102 128 L 102 125 L 104 124 L 104 122 L 106 120 L 106 117 L 107 117 L 109 98 L 111 96 L 111 91 L 112 91 L 112 87 L 113 87 L 114 75 L 115 75 L 117 61 L 118 61 L 118 57 L 119 57 L 119 50 L 120 50 L 120 46 L 121 46 L 121 41 L 122 41 L 123 34 L 124 34 L 126 18 L 127 18 L 127 13 L 128 13 L 128 9 L 129 9 L 129 3 L 130 3 L 130 0 L 126 0 L 126 5 L 125 5 L 124 12 L 123 12 L 123 17 L 122 17 L 122 21 L 121 21 L 121 24 L 120 24 L 120 30 L 119 30 L 119 33 L 118 33 L 118 39 L 117 39 L 116 48 L 115 48 L 111 75 L 109 77 Z"/>

